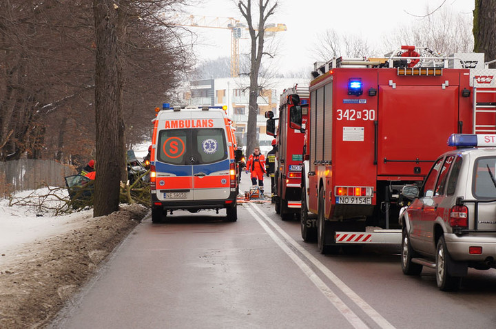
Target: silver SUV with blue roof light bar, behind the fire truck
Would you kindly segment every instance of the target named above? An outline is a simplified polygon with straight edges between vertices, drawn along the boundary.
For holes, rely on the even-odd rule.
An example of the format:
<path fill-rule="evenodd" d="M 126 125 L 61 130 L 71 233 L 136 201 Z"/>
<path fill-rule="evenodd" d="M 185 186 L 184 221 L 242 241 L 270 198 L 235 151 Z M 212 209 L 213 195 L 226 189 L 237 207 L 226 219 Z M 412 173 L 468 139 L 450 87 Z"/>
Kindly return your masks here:
<path fill-rule="evenodd" d="M 496 135 L 451 135 L 448 146 L 464 148 L 442 154 L 420 191 L 405 188 L 416 199 L 400 215 L 404 274 L 434 268 L 441 290 L 457 290 L 468 267 L 496 267 L 496 148 L 485 147 L 495 142 Z"/>

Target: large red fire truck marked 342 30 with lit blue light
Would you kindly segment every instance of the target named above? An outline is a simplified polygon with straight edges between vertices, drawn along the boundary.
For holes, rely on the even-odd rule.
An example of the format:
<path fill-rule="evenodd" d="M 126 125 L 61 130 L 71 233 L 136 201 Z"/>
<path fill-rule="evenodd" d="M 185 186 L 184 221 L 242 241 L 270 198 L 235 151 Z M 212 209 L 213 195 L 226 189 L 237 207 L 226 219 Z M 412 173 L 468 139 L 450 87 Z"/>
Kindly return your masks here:
<path fill-rule="evenodd" d="M 450 134 L 496 132 L 495 90 L 477 91 L 494 87 L 487 82 L 496 74 L 482 69 L 484 54 L 444 58 L 413 46 L 384 59 L 316 63 L 304 127 L 303 239 L 316 239 L 322 253 L 400 243 L 402 188 L 422 183 L 450 149 Z M 300 118 L 295 108 L 291 128 Z"/>

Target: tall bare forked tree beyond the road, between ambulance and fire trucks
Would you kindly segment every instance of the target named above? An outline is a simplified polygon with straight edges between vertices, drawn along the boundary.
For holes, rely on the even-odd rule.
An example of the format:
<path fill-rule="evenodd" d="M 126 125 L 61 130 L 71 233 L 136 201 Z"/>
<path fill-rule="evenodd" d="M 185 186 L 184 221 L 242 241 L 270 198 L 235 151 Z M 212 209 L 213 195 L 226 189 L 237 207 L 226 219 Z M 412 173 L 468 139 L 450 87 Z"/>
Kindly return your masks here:
<path fill-rule="evenodd" d="M 247 152 L 251 152 L 256 145 L 256 120 L 258 114 L 257 98 L 260 95 L 261 88 L 258 81 L 262 57 L 267 55 L 264 52 L 265 44 L 265 26 L 269 17 L 271 17 L 277 6 L 278 1 L 258 0 L 258 6 L 254 5 L 255 1 L 242 0 L 238 2 L 238 8 L 247 21 L 248 31 L 251 39 L 250 48 L 250 70 L 249 70 L 249 110 L 247 123 Z M 258 7 L 258 21 L 254 21 L 252 15 L 254 7 Z"/>

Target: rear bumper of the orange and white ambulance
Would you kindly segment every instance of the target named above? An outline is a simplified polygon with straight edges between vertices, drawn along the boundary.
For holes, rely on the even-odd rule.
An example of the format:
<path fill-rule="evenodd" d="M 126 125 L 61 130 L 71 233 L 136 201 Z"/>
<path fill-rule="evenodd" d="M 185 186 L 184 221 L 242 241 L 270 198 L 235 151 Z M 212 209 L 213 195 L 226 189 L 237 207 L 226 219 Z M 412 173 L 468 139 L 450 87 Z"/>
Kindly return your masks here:
<path fill-rule="evenodd" d="M 231 192 L 227 199 L 212 199 L 212 200 L 174 200 L 161 201 L 156 195 L 152 194 L 152 207 L 163 207 L 167 210 L 200 210 L 200 209 L 218 209 L 229 208 L 236 205 L 236 192 Z M 160 204 L 158 204 L 160 203 Z"/>

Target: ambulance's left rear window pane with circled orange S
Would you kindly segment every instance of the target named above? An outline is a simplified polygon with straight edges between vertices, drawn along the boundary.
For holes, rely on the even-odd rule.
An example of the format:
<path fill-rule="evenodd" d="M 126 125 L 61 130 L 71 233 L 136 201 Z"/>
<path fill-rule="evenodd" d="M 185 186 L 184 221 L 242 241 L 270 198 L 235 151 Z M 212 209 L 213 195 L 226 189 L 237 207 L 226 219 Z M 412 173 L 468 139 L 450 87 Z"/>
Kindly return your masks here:
<path fill-rule="evenodd" d="M 187 129 L 161 130 L 158 135 L 158 161 L 184 164 L 187 156 L 187 134 Z"/>

